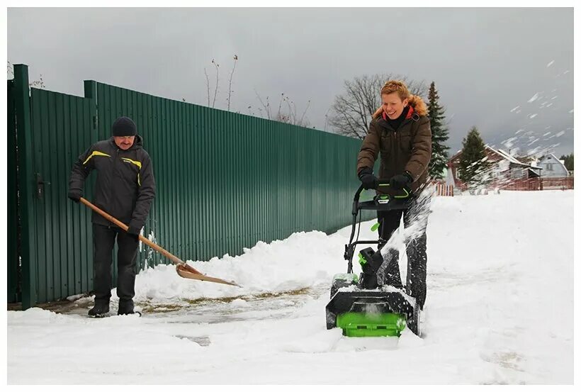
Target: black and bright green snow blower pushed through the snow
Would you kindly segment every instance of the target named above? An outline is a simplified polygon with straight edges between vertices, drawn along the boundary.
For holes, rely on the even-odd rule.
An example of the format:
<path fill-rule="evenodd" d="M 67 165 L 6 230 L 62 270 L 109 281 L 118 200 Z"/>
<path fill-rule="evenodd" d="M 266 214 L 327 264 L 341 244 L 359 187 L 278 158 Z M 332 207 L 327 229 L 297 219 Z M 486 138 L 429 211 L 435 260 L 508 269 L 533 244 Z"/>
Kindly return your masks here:
<path fill-rule="evenodd" d="M 344 258 L 347 261 L 347 273 L 336 274 L 331 285 L 331 301 L 327 304 L 327 330 L 342 328 L 343 335 L 349 337 L 397 336 L 405 326 L 419 335 L 419 309 L 415 298 L 406 289 L 398 289 L 378 281 L 378 271 L 384 263 L 389 263 L 381 254 L 385 241 L 359 241 L 361 228 L 361 211 L 390 211 L 405 209 L 410 201 L 410 191 L 390 189 L 387 181 L 379 180 L 378 194 L 371 201 L 359 201 L 363 191 L 360 186 L 356 191 L 353 209 L 351 237 L 345 245 Z M 359 215 L 359 225 L 357 217 Z M 357 226 L 357 238 L 354 241 Z M 371 230 L 377 228 L 377 224 Z M 359 252 L 361 274 L 353 273 L 353 256 L 357 245 L 377 244 L 378 250 L 366 247 Z M 381 279 L 379 279 L 381 280 Z"/>

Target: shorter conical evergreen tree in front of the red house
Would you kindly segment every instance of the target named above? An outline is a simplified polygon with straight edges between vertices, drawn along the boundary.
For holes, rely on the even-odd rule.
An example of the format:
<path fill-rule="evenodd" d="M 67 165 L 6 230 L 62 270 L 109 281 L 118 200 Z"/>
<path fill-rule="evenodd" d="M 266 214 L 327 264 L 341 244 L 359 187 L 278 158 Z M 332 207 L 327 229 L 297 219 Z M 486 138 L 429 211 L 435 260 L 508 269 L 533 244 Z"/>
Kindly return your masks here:
<path fill-rule="evenodd" d="M 469 188 L 477 187 L 487 181 L 489 164 L 486 162 L 484 142 L 478 128 L 473 126 L 462 141 L 462 155 L 458 165 L 458 178 L 468 184 Z"/>

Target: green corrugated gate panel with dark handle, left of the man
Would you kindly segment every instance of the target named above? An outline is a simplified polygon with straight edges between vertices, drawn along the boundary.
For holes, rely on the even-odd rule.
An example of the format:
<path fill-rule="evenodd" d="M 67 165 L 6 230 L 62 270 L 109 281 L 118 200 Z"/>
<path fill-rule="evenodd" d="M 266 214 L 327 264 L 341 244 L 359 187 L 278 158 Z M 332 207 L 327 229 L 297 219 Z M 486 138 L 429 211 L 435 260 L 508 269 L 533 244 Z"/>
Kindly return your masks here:
<path fill-rule="evenodd" d="M 90 99 L 30 91 L 34 172 L 50 182 L 42 198 L 34 198 L 39 303 L 93 287 L 91 215 L 67 198 L 72 164 L 96 141 L 93 113 Z M 87 182 L 91 197 L 92 181 Z"/>

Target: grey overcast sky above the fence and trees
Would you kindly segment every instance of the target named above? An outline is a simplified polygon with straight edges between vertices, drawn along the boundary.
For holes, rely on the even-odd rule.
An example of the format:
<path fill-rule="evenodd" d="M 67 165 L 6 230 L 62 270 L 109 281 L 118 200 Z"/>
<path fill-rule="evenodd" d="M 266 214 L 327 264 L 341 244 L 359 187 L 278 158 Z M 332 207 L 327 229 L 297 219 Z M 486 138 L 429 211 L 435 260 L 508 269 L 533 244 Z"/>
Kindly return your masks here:
<path fill-rule="evenodd" d="M 215 59 L 226 108 L 233 55 L 234 111 L 284 93 L 323 129 L 345 79 L 404 74 L 436 82 L 450 153 L 472 125 L 497 147 L 573 151 L 572 8 L 8 9 L 9 62 L 52 91 L 94 79 L 205 105 Z"/>

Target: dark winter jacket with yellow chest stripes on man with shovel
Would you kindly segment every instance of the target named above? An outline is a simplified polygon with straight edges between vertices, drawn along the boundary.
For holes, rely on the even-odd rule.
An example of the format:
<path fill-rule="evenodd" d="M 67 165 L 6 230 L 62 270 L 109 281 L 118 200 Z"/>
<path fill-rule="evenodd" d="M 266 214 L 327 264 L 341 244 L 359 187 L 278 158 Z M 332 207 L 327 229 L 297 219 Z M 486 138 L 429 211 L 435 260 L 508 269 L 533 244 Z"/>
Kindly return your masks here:
<path fill-rule="evenodd" d="M 85 179 L 93 169 L 97 170 L 95 206 L 126 225 L 142 228 L 155 197 L 152 162 L 143 150 L 143 138 L 137 135 L 128 150 L 117 147 L 113 138 L 91 145 L 72 168 L 69 191 L 82 194 Z M 95 212 L 92 221 L 112 225 Z"/>

